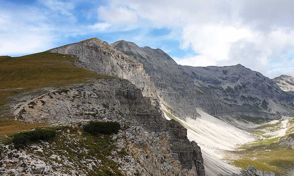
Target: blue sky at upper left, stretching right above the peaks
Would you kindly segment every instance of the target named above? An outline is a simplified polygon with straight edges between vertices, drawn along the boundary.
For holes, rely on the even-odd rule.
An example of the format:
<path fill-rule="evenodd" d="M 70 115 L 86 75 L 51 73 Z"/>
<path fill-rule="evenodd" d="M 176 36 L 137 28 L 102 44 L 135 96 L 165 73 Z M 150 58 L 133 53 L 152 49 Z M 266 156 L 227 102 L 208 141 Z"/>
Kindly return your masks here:
<path fill-rule="evenodd" d="M 133 41 L 137 45 L 150 46 L 152 48 L 161 48 L 164 49 L 166 53 L 175 57 L 183 57 L 187 54 L 195 54 L 195 52 L 191 49 L 183 50 L 179 47 L 180 43 L 178 38 L 169 37 L 172 32 L 168 28 L 132 28 L 129 30 L 91 30 L 87 26 L 95 25 L 96 23 L 103 23 L 103 20 L 98 19 L 97 9 L 99 6 L 107 6 L 108 1 L 51 1 L 51 3 L 46 3 L 49 1 L 0 1 L 3 6 L 1 9 L 5 9 L 5 11 L 9 11 L 11 16 L 17 19 L 17 21 L 21 20 L 24 22 L 26 27 L 30 26 L 39 26 L 39 25 L 49 25 L 53 27 L 52 31 L 49 33 L 53 33 L 54 39 L 52 41 L 47 42 L 46 40 L 42 41 L 46 43 L 44 47 L 35 47 L 29 50 L 16 50 L 15 48 L 12 50 L 1 50 L 1 55 L 10 55 L 10 56 L 21 56 L 36 52 L 41 52 L 44 50 L 48 50 L 54 47 L 58 47 L 61 45 L 66 45 L 69 43 L 75 43 L 87 38 L 97 37 L 101 40 L 107 41 L 108 43 L 114 43 L 118 40 L 127 40 Z M 65 8 L 64 12 L 61 9 L 53 10 L 58 6 L 58 2 L 62 2 L 63 7 Z M 36 17 L 41 15 L 45 15 L 44 21 L 34 23 L 33 20 L 28 20 L 31 18 L 30 13 L 26 15 L 26 9 L 32 8 L 36 14 Z M 21 12 L 24 15 L 19 16 L 17 14 Z M 51 26 L 52 25 L 52 26 Z M 68 26 L 68 27 L 67 27 Z M 17 25 L 13 26 L 17 28 Z M 69 31 L 61 31 L 64 28 L 78 28 L 77 31 L 68 29 Z M 125 26 L 122 26 L 123 28 Z M 9 29 L 8 29 L 9 30 Z M 14 30 L 14 29 L 13 29 Z M 59 31 L 60 30 L 60 31 Z M 21 31 L 21 29 L 20 29 Z M 80 32 L 79 32 L 80 31 Z M 31 31 L 33 33 L 34 31 Z M 9 32 L 8 32 L 9 33 Z M 51 35 L 49 34 L 48 37 Z M 143 40 L 142 40 L 143 38 Z M 149 38 L 149 39 L 148 39 Z M 16 39 L 17 40 L 17 39 Z M 38 38 L 36 38 L 38 40 Z M 42 40 L 42 38 L 40 38 Z M 11 40 L 11 42 L 14 42 Z M 26 45 L 28 43 L 21 43 Z M 41 42 L 40 42 L 41 44 Z M 42 44 L 41 44 L 42 45 Z"/>

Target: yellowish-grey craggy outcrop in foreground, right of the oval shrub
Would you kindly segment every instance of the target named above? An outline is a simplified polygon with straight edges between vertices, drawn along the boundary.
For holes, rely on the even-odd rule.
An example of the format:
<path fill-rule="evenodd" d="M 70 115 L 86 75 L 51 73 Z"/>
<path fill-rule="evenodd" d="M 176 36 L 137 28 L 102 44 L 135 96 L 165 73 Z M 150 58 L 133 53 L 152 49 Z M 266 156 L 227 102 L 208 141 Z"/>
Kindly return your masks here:
<path fill-rule="evenodd" d="M 123 138 L 119 138 L 123 136 Z M 113 138 L 117 141 L 120 150 L 126 150 L 123 158 L 115 161 L 121 165 L 126 175 L 195 175 L 196 167 L 185 169 L 178 160 L 173 158 L 170 150 L 170 136 L 167 132 L 146 132 L 141 127 L 131 126 L 126 131 L 118 133 Z M 130 165 L 130 163 L 132 163 Z M 131 166 L 131 167 L 130 167 Z M 197 174 L 196 174 L 197 175 Z"/>

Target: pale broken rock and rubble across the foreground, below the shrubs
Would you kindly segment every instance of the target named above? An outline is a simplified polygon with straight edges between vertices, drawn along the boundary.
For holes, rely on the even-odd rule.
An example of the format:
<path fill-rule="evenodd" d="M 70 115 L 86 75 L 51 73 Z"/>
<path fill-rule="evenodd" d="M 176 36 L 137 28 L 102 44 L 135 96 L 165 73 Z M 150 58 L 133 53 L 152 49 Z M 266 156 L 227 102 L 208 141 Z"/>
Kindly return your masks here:
<path fill-rule="evenodd" d="M 122 120 L 118 122 L 125 123 Z M 97 167 L 106 169 L 109 160 L 117 163 L 121 172 L 118 174 L 118 170 L 112 170 L 116 172 L 112 175 L 197 175 L 195 166 L 191 169 L 183 168 L 181 163 L 173 158 L 170 149 L 171 136 L 168 132 L 149 133 L 140 126 L 122 128 L 117 134 L 111 135 L 115 147 L 106 156 L 109 159 L 107 161 L 101 156 L 96 157 L 95 153 L 85 153 L 89 150 L 88 146 L 97 145 L 95 142 L 91 143 L 91 140 L 85 143 L 83 138 L 91 136 L 83 134 L 83 130 L 79 128 L 81 123 L 87 121 L 52 124 L 51 128 L 62 126 L 58 132 L 59 139 L 54 142 L 41 141 L 20 150 L 0 143 L 0 175 L 86 176 L 91 175 L 91 172 L 95 173 Z M 95 137 L 91 139 L 95 140 Z"/>

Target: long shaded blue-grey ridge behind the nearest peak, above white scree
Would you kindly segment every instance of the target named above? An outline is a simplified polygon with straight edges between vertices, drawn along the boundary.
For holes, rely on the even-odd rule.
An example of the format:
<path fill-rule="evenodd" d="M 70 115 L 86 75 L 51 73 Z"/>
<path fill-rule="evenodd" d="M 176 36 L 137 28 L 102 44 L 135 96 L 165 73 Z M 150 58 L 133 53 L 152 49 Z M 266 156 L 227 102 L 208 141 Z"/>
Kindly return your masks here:
<path fill-rule="evenodd" d="M 143 64 L 169 113 L 197 118 L 195 107 L 213 116 L 249 121 L 279 119 L 294 114 L 294 96 L 273 80 L 238 64 L 226 67 L 190 67 L 160 49 L 139 47 L 124 40 L 112 45 Z"/>

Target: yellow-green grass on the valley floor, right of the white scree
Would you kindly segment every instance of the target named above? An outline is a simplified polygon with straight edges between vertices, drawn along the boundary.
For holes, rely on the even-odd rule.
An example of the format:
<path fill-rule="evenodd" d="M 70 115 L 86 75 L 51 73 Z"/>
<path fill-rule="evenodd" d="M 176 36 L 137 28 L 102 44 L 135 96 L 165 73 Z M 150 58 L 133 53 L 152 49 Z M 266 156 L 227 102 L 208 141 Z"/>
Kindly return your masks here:
<path fill-rule="evenodd" d="M 290 121 L 291 123 L 291 121 Z M 277 176 L 282 176 L 289 169 L 294 168 L 294 150 L 282 149 L 278 143 L 279 138 L 266 138 L 262 135 L 263 130 L 275 131 L 280 129 L 280 121 L 273 124 L 266 124 L 256 128 L 252 133 L 256 136 L 262 136 L 258 141 L 243 145 L 240 149 L 243 152 L 239 159 L 232 160 L 236 167 L 246 169 L 248 165 L 253 165 L 258 170 L 272 171 Z"/>

